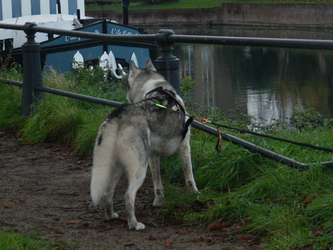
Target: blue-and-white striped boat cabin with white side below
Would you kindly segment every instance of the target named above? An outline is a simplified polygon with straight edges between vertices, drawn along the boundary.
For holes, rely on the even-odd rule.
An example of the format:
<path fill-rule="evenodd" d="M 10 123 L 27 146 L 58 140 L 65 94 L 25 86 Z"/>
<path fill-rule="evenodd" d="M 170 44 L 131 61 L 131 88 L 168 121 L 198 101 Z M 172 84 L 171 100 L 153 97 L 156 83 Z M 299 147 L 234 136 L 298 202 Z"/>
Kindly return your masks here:
<path fill-rule="evenodd" d="M 80 18 L 88 18 L 84 0 L 0 0 L 0 24 L 24 25 L 30 22 L 40 27 L 72 30 L 82 26 L 77 20 L 78 9 Z M 37 43 L 50 39 L 45 33 L 37 32 L 35 35 Z M 18 48 L 26 40 L 22 30 L 0 29 L 0 51 Z"/>

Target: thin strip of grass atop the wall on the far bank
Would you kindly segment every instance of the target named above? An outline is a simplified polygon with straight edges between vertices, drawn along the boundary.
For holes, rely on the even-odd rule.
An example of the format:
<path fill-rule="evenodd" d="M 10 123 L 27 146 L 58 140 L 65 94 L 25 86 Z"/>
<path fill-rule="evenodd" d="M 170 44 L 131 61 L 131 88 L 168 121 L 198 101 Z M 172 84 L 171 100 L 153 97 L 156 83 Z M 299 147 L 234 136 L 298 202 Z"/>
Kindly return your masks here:
<path fill-rule="evenodd" d="M 95 4 L 86 4 L 86 10 L 101 10 L 101 6 Z M 166 3 L 159 5 L 147 5 L 142 2 L 131 2 L 130 10 L 145 9 L 191 9 L 191 8 L 216 8 L 222 3 L 233 4 L 331 4 L 331 0 L 179 0 L 178 3 Z M 114 4 L 106 4 L 103 10 L 122 10 L 121 1 L 114 1 Z"/>

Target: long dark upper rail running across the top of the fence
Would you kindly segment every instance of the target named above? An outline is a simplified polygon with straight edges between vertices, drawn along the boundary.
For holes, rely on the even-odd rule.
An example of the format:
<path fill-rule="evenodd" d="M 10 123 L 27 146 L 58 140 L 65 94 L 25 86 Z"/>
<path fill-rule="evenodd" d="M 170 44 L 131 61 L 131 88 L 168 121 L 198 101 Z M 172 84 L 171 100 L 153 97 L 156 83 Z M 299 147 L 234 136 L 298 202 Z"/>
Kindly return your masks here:
<path fill-rule="evenodd" d="M 138 43 L 151 43 L 153 41 L 172 45 L 174 43 L 190 44 L 214 44 L 233 46 L 256 46 L 256 47 L 276 47 L 276 48 L 297 48 L 297 49 L 318 49 L 332 50 L 333 40 L 314 39 L 283 39 L 283 38 L 258 38 L 258 37 L 229 37 L 229 36 L 195 36 L 176 35 L 173 33 L 157 33 L 153 35 L 108 35 L 81 32 L 75 30 L 53 29 L 38 27 L 34 25 L 14 25 L 0 24 L 0 28 L 26 30 L 30 32 L 53 33 L 57 35 L 67 35 L 95 40 L 107 41 L 133 41 Z"/>

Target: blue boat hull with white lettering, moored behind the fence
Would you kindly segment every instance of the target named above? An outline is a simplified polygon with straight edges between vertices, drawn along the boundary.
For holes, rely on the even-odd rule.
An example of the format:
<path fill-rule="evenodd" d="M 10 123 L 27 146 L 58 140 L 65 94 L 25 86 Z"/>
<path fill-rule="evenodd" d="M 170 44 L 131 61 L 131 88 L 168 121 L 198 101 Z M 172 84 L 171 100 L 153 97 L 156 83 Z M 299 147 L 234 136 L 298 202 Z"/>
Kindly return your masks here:
<path fill-rule="evenodd" d="M 91 24 L 76 29 L 90 33 L 103 33 L 114 35 L 136 35 L 143 34 L 139 29 L 120 25 L 107 20 L 93 21 L 87 19 Z M 73 56 L 77 51 L 84 58 L 87 66 L 95 66 L 98 64 L 99 58 L 106 51 L 112 51 L 116 58 L 117 64 L 120 63 L 123 68 L 129 66 L 131 56 L 135 53 L 138 66 L 142 68 L 145 60 L 150 57 L 155 60 L 158 57 L 158 46 L 148 43 L 120 43 L 113 41 L 99 41 L 71 36 L 58 36 L 40 44 L 41 67 L 52 67 L 59 73 L 72 72 Z M 6 51 L 2 51 L 2 55 L 6 55 Z M 22 64 L 22 49 L 17 48 L 10 52 L 15 62 Z"/>

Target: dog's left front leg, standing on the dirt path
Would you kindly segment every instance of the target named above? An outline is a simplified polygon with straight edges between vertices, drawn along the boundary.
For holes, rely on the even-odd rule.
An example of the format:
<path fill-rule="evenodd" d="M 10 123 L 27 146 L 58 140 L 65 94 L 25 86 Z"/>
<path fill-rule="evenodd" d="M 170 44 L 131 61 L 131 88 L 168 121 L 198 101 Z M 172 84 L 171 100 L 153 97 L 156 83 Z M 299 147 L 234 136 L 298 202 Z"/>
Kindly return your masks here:
<path fill-rule="evenodd" d="M 149 167 L 152 173 L 153 183 L 154 183 L 154 192 L 155 200 L 154 206 L 161 206 L 164 202 L 164 191 L 163 184 L 161 180 L 161 173 L 159 169 L 159 156 L 157 154 L 150 154 L 149 156 Z"/>

